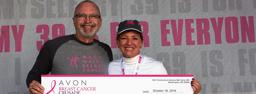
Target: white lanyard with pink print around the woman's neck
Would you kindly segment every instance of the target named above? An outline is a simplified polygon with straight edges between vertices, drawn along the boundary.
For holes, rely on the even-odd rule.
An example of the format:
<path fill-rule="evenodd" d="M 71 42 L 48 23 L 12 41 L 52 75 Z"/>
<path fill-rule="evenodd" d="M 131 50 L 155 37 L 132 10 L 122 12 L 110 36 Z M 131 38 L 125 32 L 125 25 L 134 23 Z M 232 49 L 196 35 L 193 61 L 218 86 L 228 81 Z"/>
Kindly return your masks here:
<path fill-rule="evenodd" d="M 141 66 L 141 61 L 143 61 L 143 58 L 144 57 L 139 54 L 139 58 L 137 60 L 138 63 L 136 63 L 136 65 L 135 65 L 135 68 L 134 68 L 134 71 L 133 71 L 133 75 L 137 75 L 138 72 L 140 71 L 139 66 Z M 125 71 L 125 65 L 123 63 L 123 59 L 122 59 L 122 62 L 121 62 L 121 70 L 122 70 L 122 75 L 125 75 L 126 71 Z"/>

